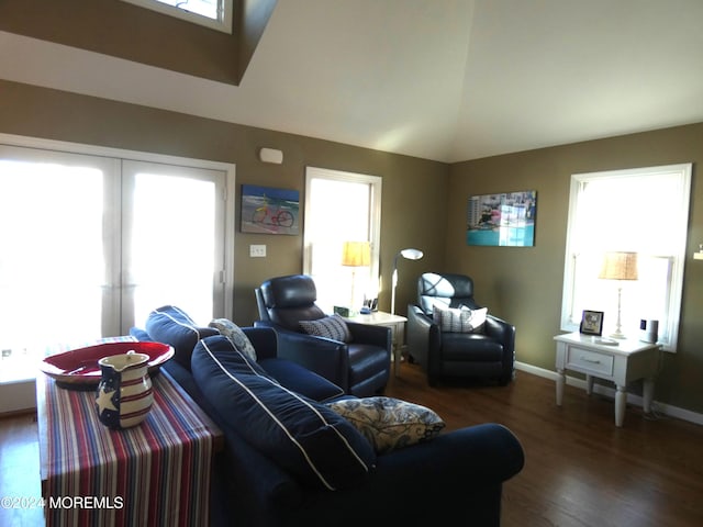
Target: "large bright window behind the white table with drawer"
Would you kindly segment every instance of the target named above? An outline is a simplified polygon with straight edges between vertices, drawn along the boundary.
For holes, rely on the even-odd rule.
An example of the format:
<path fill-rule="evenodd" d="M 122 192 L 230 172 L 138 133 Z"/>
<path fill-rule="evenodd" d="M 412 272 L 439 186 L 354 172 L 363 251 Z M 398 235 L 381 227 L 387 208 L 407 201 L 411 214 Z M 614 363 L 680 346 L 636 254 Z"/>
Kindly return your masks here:
<path fill-rule="evenodd" d="M 571 177 L 561 329 L 578 330 L 583 310 L 603 311 L 604 335 L 617 319 L 623 333 L 659 321 L 659 343 L 676 351 L 689 220 L 691 165 Z M 606 251 L 637 253 L 638 279 L 600 280 Z"/>

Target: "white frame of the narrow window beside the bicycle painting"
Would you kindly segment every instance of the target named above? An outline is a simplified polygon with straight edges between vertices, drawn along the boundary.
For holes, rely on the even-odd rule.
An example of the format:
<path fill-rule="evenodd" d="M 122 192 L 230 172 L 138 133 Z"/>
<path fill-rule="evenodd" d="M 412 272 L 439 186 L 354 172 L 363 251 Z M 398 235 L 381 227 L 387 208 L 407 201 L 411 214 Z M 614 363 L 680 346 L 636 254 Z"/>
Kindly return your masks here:
<path fill-rule="evenodd" d="M 308 218 L 311 215 L 311 209 L 314 205 L 311 195 L 311 184 L 314 179 L 327 179 L 333 181 L 346 181 L 355 183 L 369 184 L 371 188 L 371 203 L 369 206 L 369 233 L 368 240 L 370 242 L 371 257 L 370 266 L 368 268 L 368 277 L 370 284 L 379 284 L 380 277 L 380 240 L 381 240 L 381 193 L 382 193 L 382 178 L 380 176 L 371 176 L 365 173 L 346 172 L 342 170 L 333 170 L 317 167 L 305 167 L 305 225 L 308 225 Z M 354 221 L 353 217 L 346 221 Z M 312 244 L 314 240 L 311 235 L 312 229 L 305 228 L 303 234 L 303 272 L 305 274 L 312 274 Z M 342 254 L 339 254 L 339 258 Z M 378 289 L 378 288 L 377 288 Z M 378 293 L 378 291 L 376 291 Z M 342 305 L 347 305 L 348 302 L 343 302 Z M 328 306 L 322 306 L 328 307 Z M 350 307 L 360 307 L 350 306 Z"/>

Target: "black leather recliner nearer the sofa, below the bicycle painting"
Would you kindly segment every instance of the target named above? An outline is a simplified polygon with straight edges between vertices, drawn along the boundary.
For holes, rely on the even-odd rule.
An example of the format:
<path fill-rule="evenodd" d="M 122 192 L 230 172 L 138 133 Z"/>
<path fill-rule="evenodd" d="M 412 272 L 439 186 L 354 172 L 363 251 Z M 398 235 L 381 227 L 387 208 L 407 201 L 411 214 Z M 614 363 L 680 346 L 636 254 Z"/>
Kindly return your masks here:
<path fill-rule="evenodd" d="M 256 327 L 272 327 L 277 332 L 304 334 L 301 321 L 317 321 L 325 313 L 315 304 L 317 290 L 306 274 L 271 278 L 256 289 L 259 321 Z M 367 397 L 381 393 L 390 378 L 391 329 L 347 322 L 352 334 L 348 343 L 310 336 L 333 345 L 328 351 L 319 349 L 280 349 L 279 356 L 298 362 L 334 382 L 352 395 Z"/>

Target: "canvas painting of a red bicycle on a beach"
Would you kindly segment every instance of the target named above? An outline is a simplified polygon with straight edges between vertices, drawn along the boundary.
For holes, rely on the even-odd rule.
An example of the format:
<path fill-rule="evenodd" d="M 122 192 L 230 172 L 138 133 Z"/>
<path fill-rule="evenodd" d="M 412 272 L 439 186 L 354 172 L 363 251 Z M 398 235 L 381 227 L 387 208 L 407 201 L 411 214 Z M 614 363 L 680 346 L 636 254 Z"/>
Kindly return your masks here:
<path fill-rule="evenodd" d="M 242 186 L 242 232 L 298 234 L 300 193 L 297 190 Z"/>

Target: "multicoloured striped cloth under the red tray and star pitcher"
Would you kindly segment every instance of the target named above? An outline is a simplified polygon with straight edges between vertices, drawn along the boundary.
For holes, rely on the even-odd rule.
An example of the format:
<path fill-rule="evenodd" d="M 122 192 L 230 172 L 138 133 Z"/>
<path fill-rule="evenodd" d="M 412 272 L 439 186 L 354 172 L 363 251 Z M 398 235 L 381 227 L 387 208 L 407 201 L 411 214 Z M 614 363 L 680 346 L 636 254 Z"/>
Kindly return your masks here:
<path fill-rule="evenodd" d="M 46 390 L 48 526 L 208 525 L 213 430 L 167 372 L 152 380 L 147 418 L 124 430 L 100 423 L 94 392 L 38 378 Z"/>

